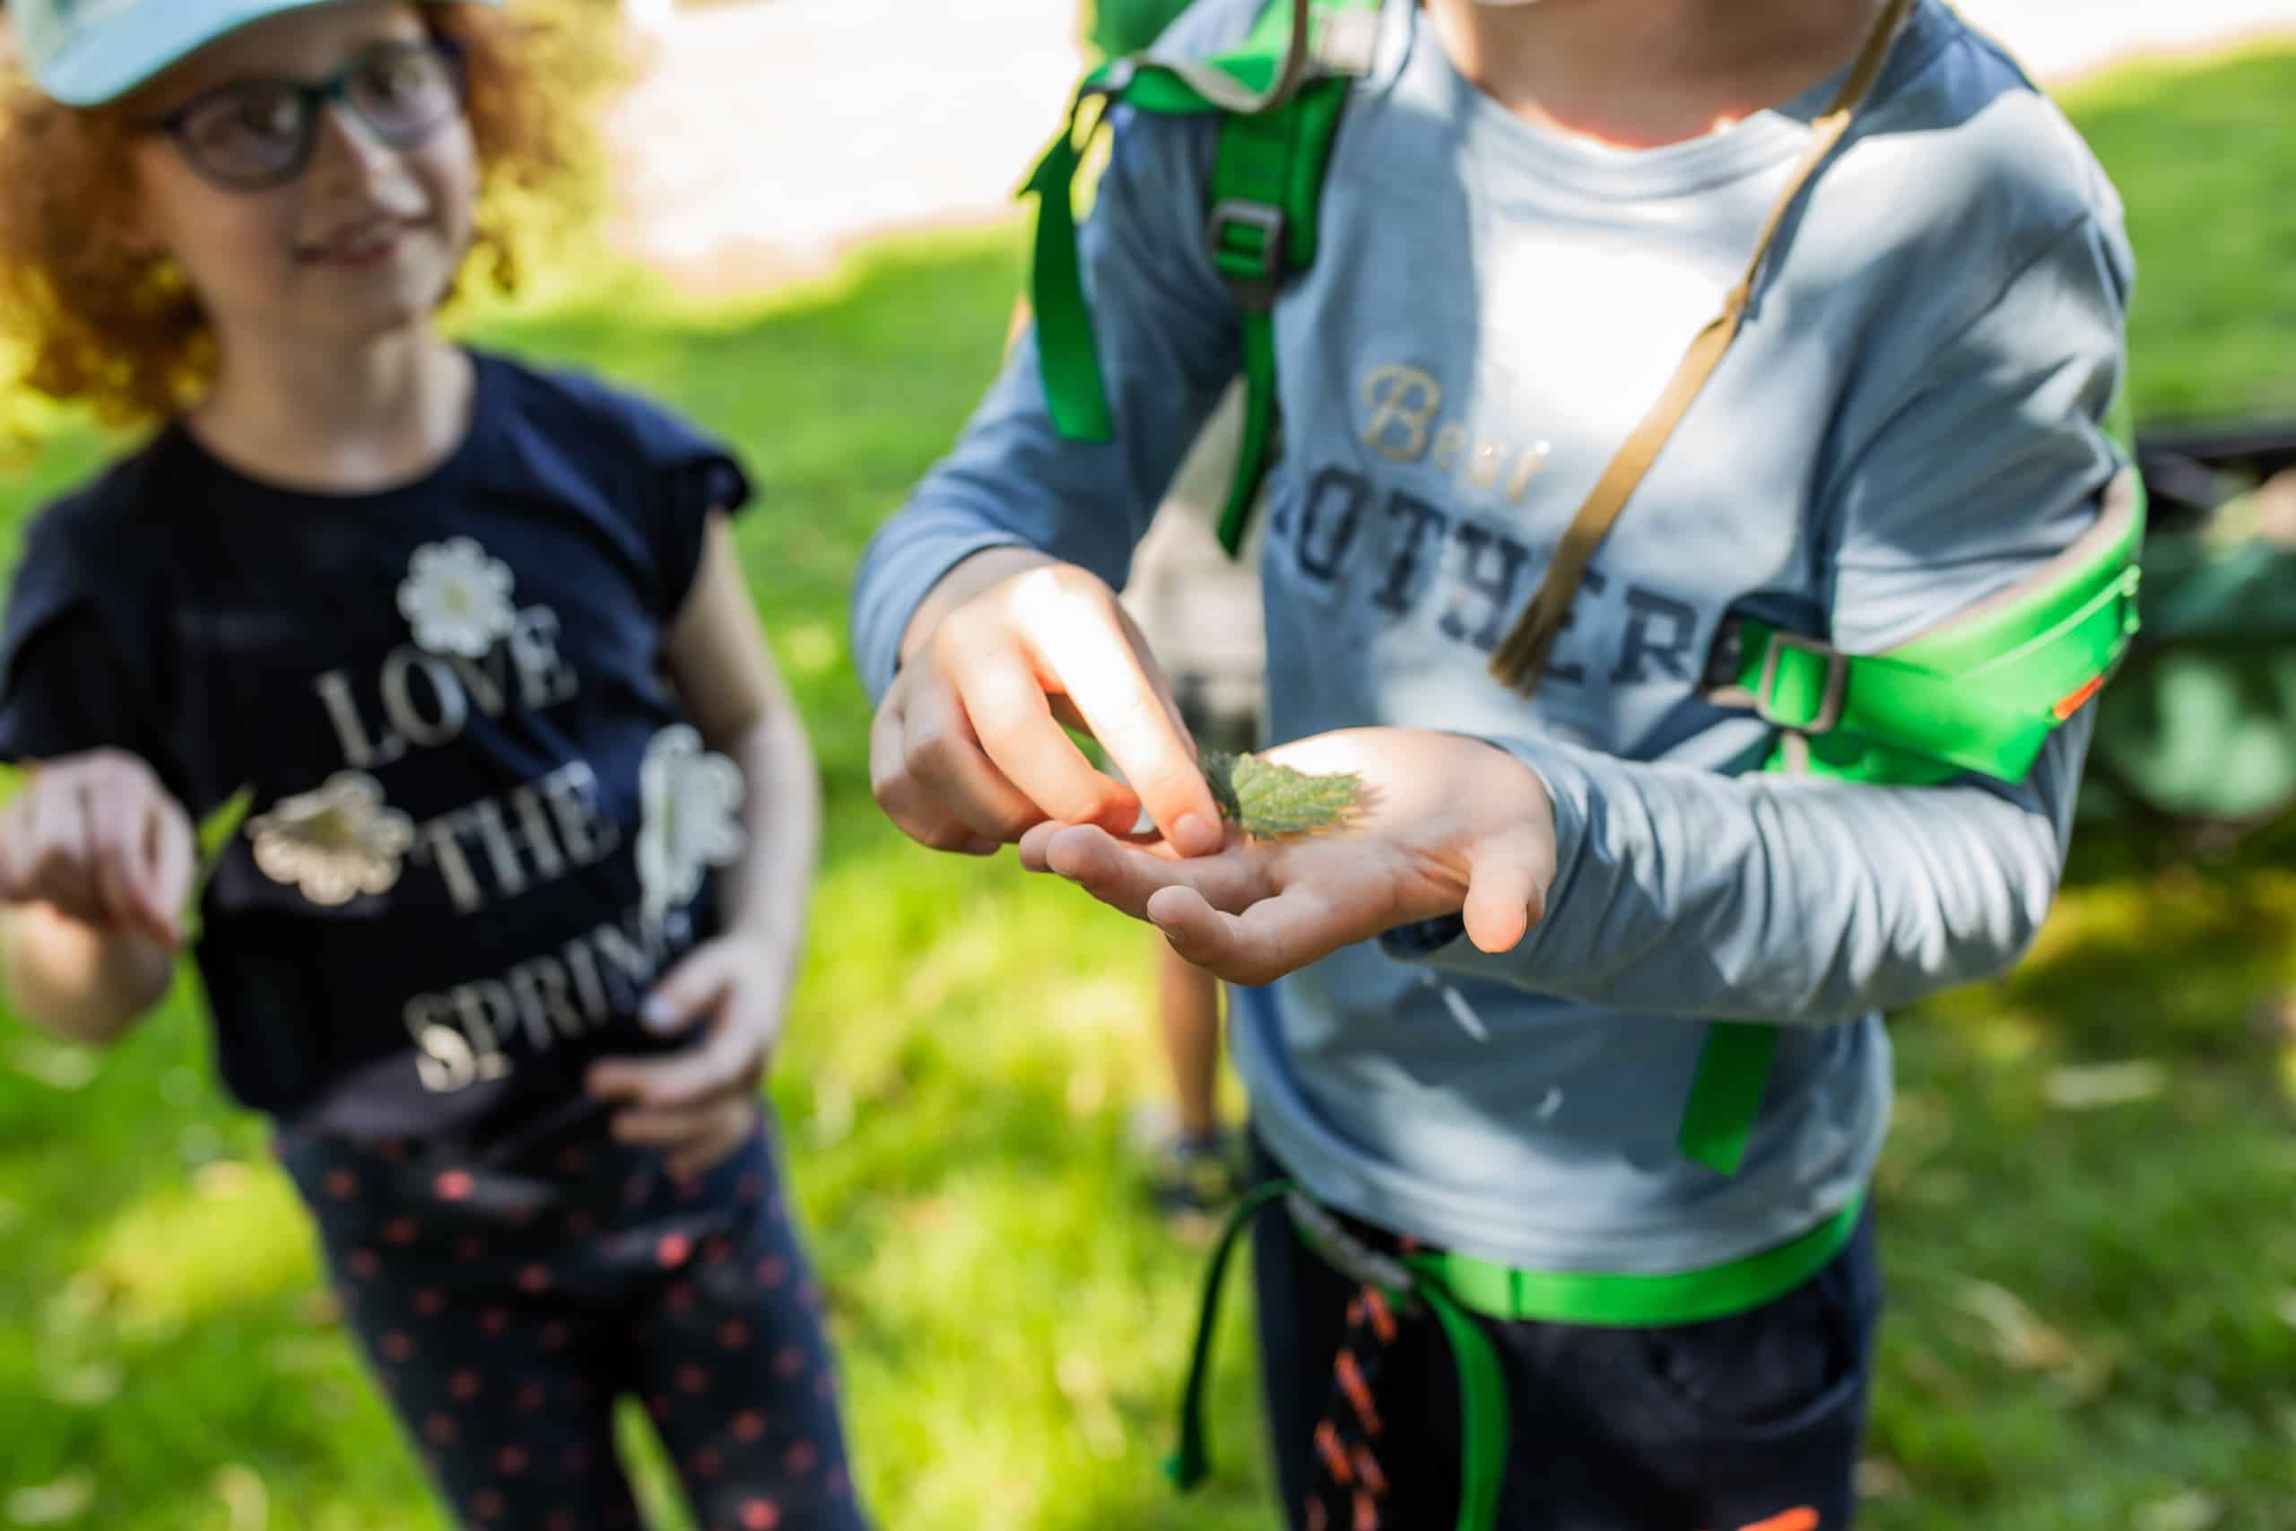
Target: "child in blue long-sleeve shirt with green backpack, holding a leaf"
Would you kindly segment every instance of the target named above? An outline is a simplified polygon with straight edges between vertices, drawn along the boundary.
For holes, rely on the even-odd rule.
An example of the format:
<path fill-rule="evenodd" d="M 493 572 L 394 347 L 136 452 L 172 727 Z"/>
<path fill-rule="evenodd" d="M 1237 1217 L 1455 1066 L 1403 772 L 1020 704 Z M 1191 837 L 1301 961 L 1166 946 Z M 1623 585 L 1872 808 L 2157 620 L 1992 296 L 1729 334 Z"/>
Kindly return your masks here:
<path fill-rule="evenodd" d="M 1304 78 L 1311 259 L 1233 131 Z M 1093 92 L 856 578 L 877 801 L 1244 985 L 1293 1526 L 1851 1524 L 1883 1012 L 2039 932 L 2133 611 L 2112 188 L 1938 0 L 1201 0 Z M 1208 780 L 1111 590 L 1240 372 L 1281 744 Z"/>

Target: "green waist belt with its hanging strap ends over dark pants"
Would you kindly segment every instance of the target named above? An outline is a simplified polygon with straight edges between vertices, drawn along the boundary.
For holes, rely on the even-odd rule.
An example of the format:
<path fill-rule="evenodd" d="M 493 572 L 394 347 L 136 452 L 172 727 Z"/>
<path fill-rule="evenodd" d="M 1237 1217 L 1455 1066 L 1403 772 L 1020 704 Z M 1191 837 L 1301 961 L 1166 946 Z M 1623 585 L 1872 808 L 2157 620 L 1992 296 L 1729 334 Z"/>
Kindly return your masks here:
<path fill-rule="evenodd" d="M 1203 1386 L 1219 1318 L 1219 1288 L 1244 1228 L 1270 1203 L 1288 1198 L 1300 1239 L 1352 1281 L 1378 1285 L 1398 1313 L 1435 1315 L 1451 1366 L 1458 1373 L 1460 1409 L 1460 1508 L 1456 1531 L 1492 1531 L 1499 1485 L 1506 1478 L 1506 1444 L 1513 1435 L 1506 1368 L 1476 1315 L 1499 1322 L 1566 1322 L 1605 1327 L 1692 1324 L 1745 1313 L 1816 1276 L 1841 1253 L 1864 1210 L 1853 1198 L 1809 1233 L 1729 1265 L 1674 1276 L 1623 1276 L 1603 1272 L 1527 1272 L 1460 1253 L 1373 1256 L 1352 1246 L 1320 1207 L 1288 1180 L 1254 1187 L 1228 1217 L 1212 1251 L 1196 1315 L 1187 1384 L 1180 1391 L 1180 1448 L 1164 1464 L 1173 1483 L 1194 1487 L 1210 1474 L 1203 1435 Z"/>

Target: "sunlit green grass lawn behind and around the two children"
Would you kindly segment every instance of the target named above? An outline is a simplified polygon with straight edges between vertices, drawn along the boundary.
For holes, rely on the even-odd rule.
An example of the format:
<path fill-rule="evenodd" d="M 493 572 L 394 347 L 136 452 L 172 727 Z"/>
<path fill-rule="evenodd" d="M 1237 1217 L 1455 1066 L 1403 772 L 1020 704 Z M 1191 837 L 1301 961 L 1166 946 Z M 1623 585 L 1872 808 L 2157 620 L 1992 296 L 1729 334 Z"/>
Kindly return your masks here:
<path fill-rule="evenodd" d="M 2147 418 L 2296 413 L 2289 101 L 2296 48 L 2076 101 L 2131 207 Z M 659 393 L 762 482 L 742 546 L 829 790 L 774 1097 L 884 1524 L 1270 1526 L 1247 1301 L 1221 1476 L 1157 1476 L 1199 1256 L 1127 1148 L 1164 1088 L 1148 943 L 868 801 L 847 574 L 992 372 L 1019 262 L 1019 225 L 886 246 L 714 312 L 599 278 L 484 335 Z M 7 535 L 96 448 L 67 425 L 0 487 Z M 2252 1024 L 2296 987 L 2291 849 L 2151 872 L 2089 836 L 2011 982 L 1899 1021 L 1874 1526 L 2296 1526 L 2296 1047 Z M 103 1058 L 0 1021 L 0 1524 L 443 1526 L 262 1141 L 188 994 Z"/>

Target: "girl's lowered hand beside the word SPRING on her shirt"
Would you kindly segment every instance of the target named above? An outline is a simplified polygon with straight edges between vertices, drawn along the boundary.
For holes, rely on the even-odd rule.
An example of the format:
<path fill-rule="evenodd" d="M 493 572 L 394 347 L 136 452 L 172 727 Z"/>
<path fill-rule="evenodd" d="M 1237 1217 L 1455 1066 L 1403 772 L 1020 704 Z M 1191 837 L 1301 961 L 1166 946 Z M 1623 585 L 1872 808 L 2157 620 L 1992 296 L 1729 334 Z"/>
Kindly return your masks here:
<path fill-rule="evenodd" d="M 696 1047 L 661 1058 L 604 1058 L 590 1095 L 627 1099 L 613 1136 L 668 1155 L 677 1178 L 723 1164 L 758 1120 L 758 1086 L 781 1040 L 790 957 L 774 941 L 735 930 L 696 946 L 645 1001 L 661 1035 L 707 1021 Z"/>

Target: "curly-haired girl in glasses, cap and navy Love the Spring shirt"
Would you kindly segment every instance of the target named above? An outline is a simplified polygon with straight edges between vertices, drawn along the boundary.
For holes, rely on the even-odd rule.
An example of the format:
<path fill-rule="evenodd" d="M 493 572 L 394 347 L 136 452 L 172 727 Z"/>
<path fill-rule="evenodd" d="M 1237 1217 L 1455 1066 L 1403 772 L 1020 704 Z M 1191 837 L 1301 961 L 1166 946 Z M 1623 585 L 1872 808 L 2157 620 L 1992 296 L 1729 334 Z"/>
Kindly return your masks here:
<path fill-rule="evenodd" d="M 817 787 L 748 482 L 434 319 L 579 163 L 551 34 L 11 14 L 0 312 L 34 388 L 154 427 L 32 521 L 0 634 L 14 1008 L 108 1042 L 195 959 L 461 1524 L 634 1529 L 622 1393 L 703 1524 L 863 1524 L 758 1093 Z"/>

